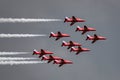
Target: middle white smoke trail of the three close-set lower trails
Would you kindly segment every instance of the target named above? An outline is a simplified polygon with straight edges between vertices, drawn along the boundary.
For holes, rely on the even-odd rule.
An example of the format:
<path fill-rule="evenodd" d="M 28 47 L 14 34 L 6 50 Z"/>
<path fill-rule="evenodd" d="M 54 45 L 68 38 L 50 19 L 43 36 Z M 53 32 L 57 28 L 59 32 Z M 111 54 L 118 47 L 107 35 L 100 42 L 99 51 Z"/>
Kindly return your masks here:
<path fill-rule="evenodd" d="M 39 59 L 39 58 L 24 58 L 24 57 L 0 57 L 0 61 L 5 60 L 33 60 L 33 59 Z"/>

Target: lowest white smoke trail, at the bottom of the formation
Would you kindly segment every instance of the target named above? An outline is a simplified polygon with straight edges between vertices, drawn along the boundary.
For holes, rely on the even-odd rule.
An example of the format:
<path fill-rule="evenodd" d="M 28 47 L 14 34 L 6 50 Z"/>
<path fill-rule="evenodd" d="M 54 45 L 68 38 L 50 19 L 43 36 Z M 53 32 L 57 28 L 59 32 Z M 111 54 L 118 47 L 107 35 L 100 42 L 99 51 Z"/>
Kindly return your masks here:
<path fill-rule="evenodd" d="M 0 61 L 0 65 L 40 64 L 45 61 Z"/>

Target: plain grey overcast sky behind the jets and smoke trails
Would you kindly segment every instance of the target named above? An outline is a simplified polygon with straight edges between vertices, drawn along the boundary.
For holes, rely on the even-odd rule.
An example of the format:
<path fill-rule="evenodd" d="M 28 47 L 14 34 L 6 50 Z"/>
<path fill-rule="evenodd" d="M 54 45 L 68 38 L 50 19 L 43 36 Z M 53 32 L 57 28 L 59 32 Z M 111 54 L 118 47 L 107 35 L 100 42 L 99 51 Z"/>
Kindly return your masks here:
<path fill-rule="evenodd" d="M 71 35 L 57 42 L 48 37 L 0 39 L 0 51 L 32 52 L 34 48 L 43 48 L 74 62 L 61 68 L 53 64 L 0 66 L 1 80 L 119 80 L 119 3 L 119 0 L 0 0 L 0 17 L 64 19 L 74 15 L 86 20 L 72 27 L 63 22 L 0 24 L 0 33 L 6 34 L 49 35 L 51 31 L 61 31 Z M 97 29 L 88 34 L 96 33 L 107 40 L 95 44 L 85 41 L 86 35 L 74 32 L 77 25 L 84 24 Z M 76 56 L 61 47 L 62 40 L 80 42 L 91 51 Z M 20 56 L 32 57 L 31 54 Z"/>

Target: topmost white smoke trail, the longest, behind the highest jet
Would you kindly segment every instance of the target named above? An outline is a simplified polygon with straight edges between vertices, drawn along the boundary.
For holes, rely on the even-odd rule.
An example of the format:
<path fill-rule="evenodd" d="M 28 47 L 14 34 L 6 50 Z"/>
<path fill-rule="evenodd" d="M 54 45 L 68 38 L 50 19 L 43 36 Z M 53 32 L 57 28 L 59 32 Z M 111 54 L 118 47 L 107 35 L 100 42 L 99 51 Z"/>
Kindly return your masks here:
<path fill-rule="evenodd" d="M 32 19 L 32 18 L 0 18 L 0 23 L 28 23 L 62 21 L 61 19 Z"/>

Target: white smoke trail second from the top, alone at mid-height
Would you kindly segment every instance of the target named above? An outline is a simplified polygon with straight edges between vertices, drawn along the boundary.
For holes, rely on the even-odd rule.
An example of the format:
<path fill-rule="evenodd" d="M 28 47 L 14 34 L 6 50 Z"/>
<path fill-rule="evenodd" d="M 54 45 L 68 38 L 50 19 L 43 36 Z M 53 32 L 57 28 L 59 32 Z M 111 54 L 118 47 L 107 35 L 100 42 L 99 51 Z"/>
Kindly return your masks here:
<path fill-rule="evenodd" d="M 0 38 L 40 37 L 45 34 L 0 34 Z"/>

